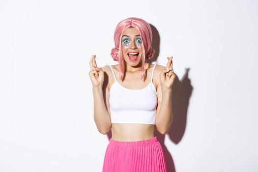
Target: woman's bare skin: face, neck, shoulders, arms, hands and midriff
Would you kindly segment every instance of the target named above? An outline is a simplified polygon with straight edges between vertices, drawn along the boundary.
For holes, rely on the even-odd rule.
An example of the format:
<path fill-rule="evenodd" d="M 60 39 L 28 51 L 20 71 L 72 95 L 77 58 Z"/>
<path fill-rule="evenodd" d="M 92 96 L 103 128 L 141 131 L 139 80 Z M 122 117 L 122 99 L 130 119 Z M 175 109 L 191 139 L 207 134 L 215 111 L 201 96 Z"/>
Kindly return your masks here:
<path fill-rule="evenodd" d="M 135 28 L 125 29 L 122 40 L 125 38 L 127 45 L 122 45 L 122 53 L 125 64 L 125 78 L 123 81 L 119 77 L 119 65 L 113 65 L 117 82 L 129 89 L 142 89 L 150 83 L 151 72 L 154 64 L 144 63 L 146 69 L 146 79 L 141 79 L 142 71 L 142 46 L 139 44 L 140 32 Z M 128 44 L 128 42 L 130 42 Z M 138 60 L 131 61 L 128 52 L 139 52 Z M 102 68 L 97 66 L 96 56 L 92 56 L 89 61 L 89 77 L 92 82 L 94 97 L 94 121 L 98 131 L 107 134 L 112 131 L 112 139 L 123 142 L 134 142 L 153 138 L 155 126 L 161 134 L 166 134 L 171 127 L 172 114 L 172 85 L 175 74 L 173 72 L 173 57 L 167 57 L 166 66 L 156 65 L 153 75 L 153 84 L 157 90 L 158 105 L 156 108 L 156 125 L 153 124 L 126 124 L 111 123 L 109 90 L 115 82 L 114 75 L 109 66 Z M 169 70 L 166 70 L 169 69 Z M 104 75 L 104 73 L 106 75 Z M 134 82 L 131 82 L 134 81 Z M 126 98 L 126 97 L 125 97 Z"/>

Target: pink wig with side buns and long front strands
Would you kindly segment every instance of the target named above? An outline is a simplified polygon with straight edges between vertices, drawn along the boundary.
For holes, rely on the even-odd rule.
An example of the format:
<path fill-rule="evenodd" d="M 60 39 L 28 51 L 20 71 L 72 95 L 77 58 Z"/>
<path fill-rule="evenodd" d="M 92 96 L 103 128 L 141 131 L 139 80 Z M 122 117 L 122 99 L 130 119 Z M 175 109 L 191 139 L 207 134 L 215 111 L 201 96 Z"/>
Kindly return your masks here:
<path fill-rule="evenodd" d="M 124 77 L 124 66 L 123 66 L 123 55 L 122 55 L 122 33 L 125 29 L 134 27 L 138 29 L 142 37 L 142 49 L 143 49 L 143 59 L 142 64 L 145 62 L 145 58 L 150 59 L 153 57 L 155 50 L 152 48 L 152 32 L 150 26 L 143 19 L 136 17 L 130 17 L 119 22 L 115 28 L 114 41 L 115 48 L 111 51 L 111 56 L 115 61 L 119 63 L 119 76 L 123 80 Z M 145 69 L 142 65 L 142 79 L 145 78 Z"/>

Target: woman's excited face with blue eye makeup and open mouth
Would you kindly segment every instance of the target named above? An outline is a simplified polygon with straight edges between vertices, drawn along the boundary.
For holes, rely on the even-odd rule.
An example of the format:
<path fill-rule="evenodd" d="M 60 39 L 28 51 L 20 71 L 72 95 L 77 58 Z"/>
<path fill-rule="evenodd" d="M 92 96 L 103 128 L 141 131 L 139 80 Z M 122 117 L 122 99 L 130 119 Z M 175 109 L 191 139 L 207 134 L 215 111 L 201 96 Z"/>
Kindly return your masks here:
<path fill-rule="evenodd" d="M 142 61 L 142 37 L 136 28 L 127 28 L 122 34 L 122 53 L 126 63 L 137 66 Z"/>

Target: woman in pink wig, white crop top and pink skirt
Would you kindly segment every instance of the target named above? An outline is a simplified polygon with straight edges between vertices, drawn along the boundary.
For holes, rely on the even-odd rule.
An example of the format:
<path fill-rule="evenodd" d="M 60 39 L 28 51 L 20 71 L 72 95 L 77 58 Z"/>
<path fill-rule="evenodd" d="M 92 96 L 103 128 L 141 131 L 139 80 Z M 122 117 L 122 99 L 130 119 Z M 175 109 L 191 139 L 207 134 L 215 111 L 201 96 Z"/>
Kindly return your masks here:
<path fill-rule="evenodd" d="M 167 172 L 164 152 L 154 136 L 172 123 L 172 57 L 165 66 L 152 58 L 152 32 L 143 19 L 128 18 L 115 29 L 111 56 L 116 65 L 89 64 L 94 97 L 94 121 L 100 133 L 112 131 L 103 172 Z"/>

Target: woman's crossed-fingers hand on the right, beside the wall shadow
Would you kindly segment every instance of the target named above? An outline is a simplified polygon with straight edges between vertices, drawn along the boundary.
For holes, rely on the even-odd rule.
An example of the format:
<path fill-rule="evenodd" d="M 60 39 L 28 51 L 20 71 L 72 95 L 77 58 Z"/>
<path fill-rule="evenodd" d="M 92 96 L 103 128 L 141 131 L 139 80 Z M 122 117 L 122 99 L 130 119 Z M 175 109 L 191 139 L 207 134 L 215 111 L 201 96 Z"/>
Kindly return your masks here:
<path fill-rule="evenodd" d="M 173 57 L 168 57 L 169 61 L 166 65 L 166 68 L 160 73 L 160 85 L 162 89 L 172 89 L 172 85 L 175 79 L 175 74 L 172 68 L 172 58 Z"/>

